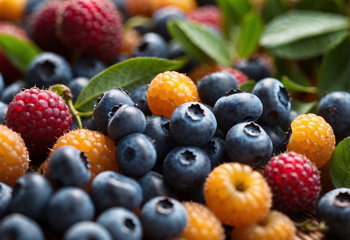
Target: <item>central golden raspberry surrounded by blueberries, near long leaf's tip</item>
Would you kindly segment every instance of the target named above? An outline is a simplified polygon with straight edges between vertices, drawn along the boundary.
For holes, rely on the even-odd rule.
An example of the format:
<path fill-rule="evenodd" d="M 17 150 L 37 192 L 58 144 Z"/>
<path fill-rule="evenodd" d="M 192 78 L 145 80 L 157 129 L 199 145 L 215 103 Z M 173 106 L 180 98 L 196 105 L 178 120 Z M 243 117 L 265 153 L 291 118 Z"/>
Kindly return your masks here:
<path fill-rule="evenodd" d="M 147 103 L 153 114 L 170 118 L 179 105 L 199 101 L 197 86 L 183 73 L 159 73 L 148 87 Z"/>

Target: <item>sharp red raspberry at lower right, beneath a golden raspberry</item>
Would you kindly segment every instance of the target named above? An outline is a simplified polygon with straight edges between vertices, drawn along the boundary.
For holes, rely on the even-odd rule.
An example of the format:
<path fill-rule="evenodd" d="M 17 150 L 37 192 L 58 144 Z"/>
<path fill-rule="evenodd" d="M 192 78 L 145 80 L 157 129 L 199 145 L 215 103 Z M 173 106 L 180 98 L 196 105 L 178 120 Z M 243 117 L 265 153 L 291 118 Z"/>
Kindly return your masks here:
<path fill-rule="evenodd" d="M 286 152 L 271 158 L 264 176 L 280 210 L 301 211 L 310 207 L 320 192 L 320 176 L 303 155 Z"/>

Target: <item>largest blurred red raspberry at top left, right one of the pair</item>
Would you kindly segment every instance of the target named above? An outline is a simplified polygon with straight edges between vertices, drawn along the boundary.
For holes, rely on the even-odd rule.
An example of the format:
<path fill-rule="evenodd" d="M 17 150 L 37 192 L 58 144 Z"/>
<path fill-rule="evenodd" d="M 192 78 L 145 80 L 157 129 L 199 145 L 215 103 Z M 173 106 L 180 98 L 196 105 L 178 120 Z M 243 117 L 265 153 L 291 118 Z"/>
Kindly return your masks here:
<path fill-rule="evenodd" d="M 84 55 L 110 61 L 123 41 L 120 15 L 110 0 L 67 0 L 57 10 L 58 37 Z"/>

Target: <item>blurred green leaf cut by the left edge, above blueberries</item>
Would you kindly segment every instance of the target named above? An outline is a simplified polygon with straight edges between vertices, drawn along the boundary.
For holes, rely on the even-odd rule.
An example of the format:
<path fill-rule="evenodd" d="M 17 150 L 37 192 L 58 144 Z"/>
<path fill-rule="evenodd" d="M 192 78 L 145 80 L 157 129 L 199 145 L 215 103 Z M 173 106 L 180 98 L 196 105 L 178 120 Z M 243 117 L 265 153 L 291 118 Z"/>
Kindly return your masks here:
<path fill-rule="evenodd" d="M 30 61 L 42 52 L 34 42 L 6 34 L 0 34 L 0 48 L 6 59 L 22 73 L 26 72 Z"/>

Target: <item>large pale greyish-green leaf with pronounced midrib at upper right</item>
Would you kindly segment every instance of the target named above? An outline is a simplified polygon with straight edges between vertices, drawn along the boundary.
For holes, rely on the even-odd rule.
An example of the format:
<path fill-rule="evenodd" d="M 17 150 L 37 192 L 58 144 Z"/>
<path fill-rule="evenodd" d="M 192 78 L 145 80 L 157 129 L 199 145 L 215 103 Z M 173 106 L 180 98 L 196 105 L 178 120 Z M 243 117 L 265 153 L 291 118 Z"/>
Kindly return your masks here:
<path fill-rule="evenodd" d="M 290 10 L 265 26 L 260 45 L 281 58 L 309 59 L 322 55 L 348 29 L 348 18 L 340 14 Z"/>

